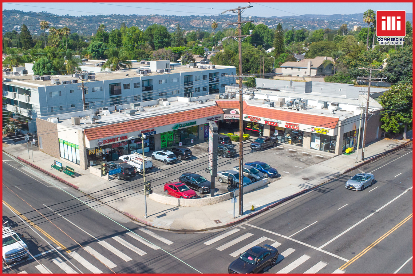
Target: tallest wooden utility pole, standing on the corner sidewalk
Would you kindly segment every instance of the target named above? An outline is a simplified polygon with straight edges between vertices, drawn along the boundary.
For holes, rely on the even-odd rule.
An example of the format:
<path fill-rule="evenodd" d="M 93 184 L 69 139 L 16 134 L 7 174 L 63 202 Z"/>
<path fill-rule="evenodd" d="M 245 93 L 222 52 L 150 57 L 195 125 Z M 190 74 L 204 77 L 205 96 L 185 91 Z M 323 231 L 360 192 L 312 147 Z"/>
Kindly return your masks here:
<path fill-rule="evenodd" d="M 230 36 L 230 38 L 238 38 L 238 51 L 239 51 L 239 215 L 244 214 L 244 201 L 243 201 L 243 185 L 244 185 L 244 174 L 243 172 L 243 156 L 244 156 L 244 145 L 243 145 L 243 134 L 244 134 L 244 121 L 243 121 L 243 98 L 242 98 L 242 38 L 245 38 L 249 35 L 242 36 L 242 23 L 253 22 L 253 20 L 241 21 L 241 10 L 251 8 L 251 3 L 248 3 L 247 7 L 238 7 L 237 9 L 226 10 L 226 12 L 238 13 L 238 22 L 233 22 L 228 25 L 238 24 L 238 36 Z"/>

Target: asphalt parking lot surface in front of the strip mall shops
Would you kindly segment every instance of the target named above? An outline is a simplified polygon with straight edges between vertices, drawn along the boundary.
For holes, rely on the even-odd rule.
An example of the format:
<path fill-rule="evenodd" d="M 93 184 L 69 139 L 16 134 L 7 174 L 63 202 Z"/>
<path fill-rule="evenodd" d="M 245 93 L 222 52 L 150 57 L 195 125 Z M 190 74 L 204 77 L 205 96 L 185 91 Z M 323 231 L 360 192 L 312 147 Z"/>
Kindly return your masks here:
<path fill-rule="evenodd" d="M 271 167 L 278 170 L 277 178 L 270 178 L 269 181 L 278 181 L 285 175 L 295 173 L 298 170 L 307 168 L 314 164 L 320 163 L 330 158 L 327 155 L 315 153 L 306 154 L 302 147 L 294 146 L 291 144 L 282 144 L 276 147 L 265 149 L 264 151 L 251 151 L 249 148 L 250 142 L 244 143 L 244 163 L 249 161 L 263 161 L 268 163 Z M 239 165 L 239 143 L 233 142 L 236 155 L 231 158 L 225 158 L 218 156 L 217 158 L 217 170 L 232 170 L 233 167 Z M 197 173 L 205 177 L 210 181 L 210 173 L 205 170 L 208 168 L 208 154 L 207 154 L 207 142 L 195 144 L 193 146 L 186 145 L 192 151 L 192 157 L 186 160 L 177 160 L 172 164 L 164 164 L 162 161 L 153 160 L 153 169 L 146 173 L 146 181 L 151 181 L 151 189 L 157 194 L 166 194 L 163 191 L 164 184 L 167 182 L 178 181 L 178 178 L 182 173 Z M 295 151 L 294 151 L 295 150 Z M 151 152 L 146 153 L 146 156 L 151 156 Z M 306 177 L 306 176 L 305 176 Z M 124 189 L 134 190 L 141 192 L 143 189 L 143 175 L 137 174 L 131 180 L 111 180 L 116 181 L 117 184 L 122 185 Z M 215 178 L 215 194 L 223 194 L 228 192 L 227 184 L 220 183 Z M 200 197 L 206 197 L 209 194 L 199 194 Z"/>

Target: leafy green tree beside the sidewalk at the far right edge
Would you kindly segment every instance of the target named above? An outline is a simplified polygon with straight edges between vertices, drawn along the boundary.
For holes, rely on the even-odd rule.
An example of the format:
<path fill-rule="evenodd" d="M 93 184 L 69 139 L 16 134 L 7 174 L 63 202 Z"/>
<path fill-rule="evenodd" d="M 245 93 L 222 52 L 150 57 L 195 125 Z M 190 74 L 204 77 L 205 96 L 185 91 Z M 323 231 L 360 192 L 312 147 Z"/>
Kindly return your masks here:
<path fill-rule="evenodd" d="M 379 98 L 384 109 L 381 128 L 398 133 L 399 124 L 403 124 L 403 139 L 406 139 L 408 125 L 412 128 L 412 84 L 393 85 Z"/>

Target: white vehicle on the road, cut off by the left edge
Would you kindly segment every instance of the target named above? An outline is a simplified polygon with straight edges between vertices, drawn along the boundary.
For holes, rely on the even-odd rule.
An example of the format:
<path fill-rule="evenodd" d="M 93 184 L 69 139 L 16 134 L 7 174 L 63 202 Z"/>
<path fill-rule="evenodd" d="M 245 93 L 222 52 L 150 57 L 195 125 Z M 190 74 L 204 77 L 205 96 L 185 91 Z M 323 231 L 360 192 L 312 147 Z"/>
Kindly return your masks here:
<path fill-rule="evenodd" d="M 10 226 L 3 225 L 3 263 L 11 264 L 27 258 L 29 251 L 22 237 Z"/>

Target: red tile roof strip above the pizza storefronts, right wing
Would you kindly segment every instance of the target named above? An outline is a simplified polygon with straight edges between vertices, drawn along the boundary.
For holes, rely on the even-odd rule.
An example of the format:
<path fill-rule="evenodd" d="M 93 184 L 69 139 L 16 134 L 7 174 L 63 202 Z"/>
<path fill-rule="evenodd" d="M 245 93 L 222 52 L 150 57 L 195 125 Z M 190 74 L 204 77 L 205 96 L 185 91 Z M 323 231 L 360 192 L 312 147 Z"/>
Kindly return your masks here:
<path fill-rule="evenodd" d="M 339 122 L 339 118 L 305 114 L 290 110 L 278 110 L 259 106 L 247 106 L 247 108 L 244 109 L 244 114 L 274 120 L 295 122 L 305 125 L 320 126 L 325 128 L 334 128 L 336 127 L 337 122 Z"/>

